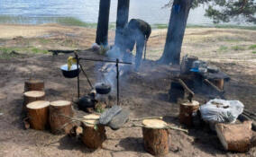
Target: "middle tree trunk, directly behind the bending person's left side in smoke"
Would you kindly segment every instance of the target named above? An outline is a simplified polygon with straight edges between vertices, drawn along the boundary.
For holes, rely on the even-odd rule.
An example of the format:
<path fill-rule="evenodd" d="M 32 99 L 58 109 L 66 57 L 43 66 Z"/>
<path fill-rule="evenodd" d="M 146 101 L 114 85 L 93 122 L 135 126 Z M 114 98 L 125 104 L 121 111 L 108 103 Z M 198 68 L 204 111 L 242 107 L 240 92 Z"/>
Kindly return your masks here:
<path fill-rule="evenodd" d="M 119 48 L 122 45 L 121 32 L 129 19 L 129 5 L 130 0 L 118 0 L 114 45 Z"/>

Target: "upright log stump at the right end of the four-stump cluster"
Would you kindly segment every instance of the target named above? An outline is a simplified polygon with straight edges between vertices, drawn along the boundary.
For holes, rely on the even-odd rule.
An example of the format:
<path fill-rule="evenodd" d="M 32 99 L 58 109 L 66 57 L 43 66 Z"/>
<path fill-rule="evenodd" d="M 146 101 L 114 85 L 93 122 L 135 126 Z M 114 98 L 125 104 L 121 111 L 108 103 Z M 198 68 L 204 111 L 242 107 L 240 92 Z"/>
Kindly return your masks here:
<path fill-rule="evenodd" d="M 72 104 L 67 100 L 56 100 L 50 102 L 49 123 L 53 134 L 69 134 L 73 127 L 72 117 L 74 115 Z"/>

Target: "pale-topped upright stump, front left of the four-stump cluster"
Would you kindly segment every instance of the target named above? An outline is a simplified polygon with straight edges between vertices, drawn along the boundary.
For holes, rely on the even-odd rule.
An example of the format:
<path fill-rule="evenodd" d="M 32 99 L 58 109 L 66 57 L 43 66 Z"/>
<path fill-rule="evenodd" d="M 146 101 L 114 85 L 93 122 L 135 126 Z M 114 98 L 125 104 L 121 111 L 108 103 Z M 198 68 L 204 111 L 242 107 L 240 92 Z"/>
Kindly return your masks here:
<path fill-rule="evenodd" d="M 44 130 L 48 126 L 48 109 L 50 102 L 37 100 L 27 105 L 30 126 L 36 130 Z"/>

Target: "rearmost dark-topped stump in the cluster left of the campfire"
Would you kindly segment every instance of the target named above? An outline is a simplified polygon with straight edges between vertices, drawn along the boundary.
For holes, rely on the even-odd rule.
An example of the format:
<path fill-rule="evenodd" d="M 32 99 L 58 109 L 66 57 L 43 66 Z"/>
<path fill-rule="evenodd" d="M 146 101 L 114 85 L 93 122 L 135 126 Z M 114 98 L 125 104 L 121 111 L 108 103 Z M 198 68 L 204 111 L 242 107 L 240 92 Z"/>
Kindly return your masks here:
<path fill-rule="evenodd" d="M 41 91 L 44 92 L 44 82 L 42 80 L 27 80 L 24 83 L 24 92 Z"/>

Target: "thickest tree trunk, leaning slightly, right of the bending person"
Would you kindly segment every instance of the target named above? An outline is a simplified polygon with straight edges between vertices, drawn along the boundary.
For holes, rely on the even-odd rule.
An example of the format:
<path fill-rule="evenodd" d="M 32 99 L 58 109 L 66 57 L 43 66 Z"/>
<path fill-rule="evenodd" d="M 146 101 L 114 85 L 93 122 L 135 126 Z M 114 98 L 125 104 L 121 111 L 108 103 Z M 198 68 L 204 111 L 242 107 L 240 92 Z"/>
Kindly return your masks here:
<path fill-rule="evenodd" d="M 182 41 L 187 25 L 187 16 L 193 0 L 174 0 L 169 18 L 165 48 L 160 63 L 179 65 Z"/>

